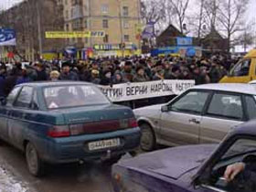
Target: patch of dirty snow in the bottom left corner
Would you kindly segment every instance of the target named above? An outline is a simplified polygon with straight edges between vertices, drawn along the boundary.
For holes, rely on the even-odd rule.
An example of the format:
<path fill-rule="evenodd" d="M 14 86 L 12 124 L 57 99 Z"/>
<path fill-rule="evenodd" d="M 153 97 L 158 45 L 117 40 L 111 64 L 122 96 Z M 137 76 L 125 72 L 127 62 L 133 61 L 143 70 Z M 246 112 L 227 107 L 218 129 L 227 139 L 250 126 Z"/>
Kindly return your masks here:
<path fill-rule="evenodd" d="M 0 166 L 0 192 L 27 192 L 28 189 Z"/>

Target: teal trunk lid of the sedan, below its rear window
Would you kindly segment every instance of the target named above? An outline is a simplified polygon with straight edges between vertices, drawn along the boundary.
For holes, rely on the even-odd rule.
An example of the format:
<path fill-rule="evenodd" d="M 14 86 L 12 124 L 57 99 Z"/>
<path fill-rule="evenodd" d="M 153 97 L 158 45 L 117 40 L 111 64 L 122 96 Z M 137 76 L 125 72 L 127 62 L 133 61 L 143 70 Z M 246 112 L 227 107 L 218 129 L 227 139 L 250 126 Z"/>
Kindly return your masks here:
<path fill-rule="evenodd" d="M 133 111 L 115 104 L 93 105 L 56 110 L 64 115 L 68 124 L 133 118 Z"/>

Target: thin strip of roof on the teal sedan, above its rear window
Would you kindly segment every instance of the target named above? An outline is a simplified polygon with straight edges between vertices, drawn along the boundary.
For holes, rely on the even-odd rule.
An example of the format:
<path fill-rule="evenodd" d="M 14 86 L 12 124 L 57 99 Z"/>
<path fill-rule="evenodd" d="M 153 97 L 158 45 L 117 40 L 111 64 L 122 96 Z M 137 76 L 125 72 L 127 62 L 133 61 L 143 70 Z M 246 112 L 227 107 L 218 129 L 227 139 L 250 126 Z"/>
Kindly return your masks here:
<path fill-rule="evenodd" d="M 27 83 L 20 84 L 19 86 L 51 87 L 51 86 L 63 86 L 63 85 L 93 85 L 93 84 L 85 81 L 57 80 L 57 81 L 27 82 Z"/>

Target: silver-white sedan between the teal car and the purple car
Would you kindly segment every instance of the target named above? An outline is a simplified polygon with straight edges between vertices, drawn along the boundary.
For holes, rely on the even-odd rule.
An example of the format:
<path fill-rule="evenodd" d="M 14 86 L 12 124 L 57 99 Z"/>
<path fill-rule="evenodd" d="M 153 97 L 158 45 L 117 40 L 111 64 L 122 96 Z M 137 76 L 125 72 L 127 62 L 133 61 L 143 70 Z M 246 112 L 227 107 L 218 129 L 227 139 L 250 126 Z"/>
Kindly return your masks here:
<path fill-rule="evenodd" d="M 155 144 L 219 143 L 231 127 L 256 118 L 256 88 L 250 84 L 195 86 L 174 100 L 133 110 L 142 129 L 141 148 Z"/>

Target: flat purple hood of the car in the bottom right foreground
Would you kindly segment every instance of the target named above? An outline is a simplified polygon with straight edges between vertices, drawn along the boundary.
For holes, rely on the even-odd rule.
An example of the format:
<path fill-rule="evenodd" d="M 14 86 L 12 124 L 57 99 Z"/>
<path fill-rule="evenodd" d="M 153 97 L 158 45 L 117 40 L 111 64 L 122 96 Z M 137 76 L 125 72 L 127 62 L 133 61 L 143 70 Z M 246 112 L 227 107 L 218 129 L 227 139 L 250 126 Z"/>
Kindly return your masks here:
<path fill-rule="evenodd" d="M 118 165 L 178 179 L 198 168 L 217 146 L 216 144 L 178 146 L 123 160 Z"/>

